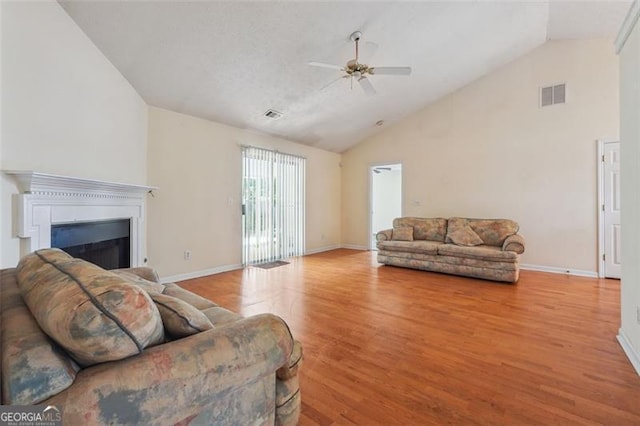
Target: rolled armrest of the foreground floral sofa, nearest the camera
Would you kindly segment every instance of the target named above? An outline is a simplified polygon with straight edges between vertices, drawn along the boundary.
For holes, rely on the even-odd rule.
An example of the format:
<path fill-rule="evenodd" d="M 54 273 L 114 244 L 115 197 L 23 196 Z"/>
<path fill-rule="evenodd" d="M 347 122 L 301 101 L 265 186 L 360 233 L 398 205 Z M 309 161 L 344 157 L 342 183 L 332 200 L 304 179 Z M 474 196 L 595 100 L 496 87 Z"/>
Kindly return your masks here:
<path fill-rule="evenodd" d="M 271 314 L 244 318 L 78 373 L 42 404 L 67 424 L 175 424 L 285 365 L 293 338 Z"/>

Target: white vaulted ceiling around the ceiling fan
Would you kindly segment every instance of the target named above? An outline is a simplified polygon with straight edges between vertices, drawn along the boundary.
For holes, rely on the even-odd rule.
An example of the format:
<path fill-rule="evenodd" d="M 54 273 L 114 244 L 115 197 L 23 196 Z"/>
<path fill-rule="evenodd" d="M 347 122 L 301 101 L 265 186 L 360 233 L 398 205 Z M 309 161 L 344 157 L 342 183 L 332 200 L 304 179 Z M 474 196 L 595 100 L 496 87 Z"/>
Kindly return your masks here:
<path fill-rule="evenodd" d="M 613 38 L 631 1 L 60 3 L 148 104 L 342 152 L 548 39 Z M 341 73 L 307 63 L 345 65 L 355 30 L 413 73 L 322 89 Z"/>

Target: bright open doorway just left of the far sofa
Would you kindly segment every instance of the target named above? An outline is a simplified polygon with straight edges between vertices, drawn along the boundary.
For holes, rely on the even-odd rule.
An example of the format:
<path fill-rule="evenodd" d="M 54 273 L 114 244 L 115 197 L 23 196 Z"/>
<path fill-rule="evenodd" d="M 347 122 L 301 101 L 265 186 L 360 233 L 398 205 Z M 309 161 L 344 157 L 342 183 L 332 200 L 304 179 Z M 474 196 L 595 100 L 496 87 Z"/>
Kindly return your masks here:
<path fill-rule="evenodd" d="M 402 164 L 369 167 L 370 213 L 369 249 L 376 250 L 376 234 L 393 226 L 402 216 Z"/>

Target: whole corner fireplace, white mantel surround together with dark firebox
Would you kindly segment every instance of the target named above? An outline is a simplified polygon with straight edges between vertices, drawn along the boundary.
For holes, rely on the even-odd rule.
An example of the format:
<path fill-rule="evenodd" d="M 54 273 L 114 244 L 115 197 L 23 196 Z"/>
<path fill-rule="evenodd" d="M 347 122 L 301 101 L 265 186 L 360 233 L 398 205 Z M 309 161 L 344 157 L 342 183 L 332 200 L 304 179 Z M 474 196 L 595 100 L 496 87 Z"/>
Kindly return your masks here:
<path fill-rule="evenodd" d="M 59 247 L 110 269 L 146 263 L 145 201 L 156 188 L 33 171 L 4 173 L 16 180 L 20 191 L 15 228 L 23 240 L 22 255 Z M 98 230 L 97 238 L 85 235 L 87 229 L 95 232 L 92 227 Z M 107 230 L 112 235 L 103 238 Z M 58 237 L 63 242 L 54 241 Z M 109 248 L 114 245 L 117 248 Z"/>

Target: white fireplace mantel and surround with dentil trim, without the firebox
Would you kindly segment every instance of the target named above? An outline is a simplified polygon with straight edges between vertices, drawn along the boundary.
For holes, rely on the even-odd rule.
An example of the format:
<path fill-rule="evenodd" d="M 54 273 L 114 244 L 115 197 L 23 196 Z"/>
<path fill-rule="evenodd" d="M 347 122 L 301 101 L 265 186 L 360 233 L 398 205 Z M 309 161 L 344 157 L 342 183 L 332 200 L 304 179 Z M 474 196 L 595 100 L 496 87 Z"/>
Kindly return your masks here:
<path fill-rule="evenodd" d="M 18 237 L 26 252 L 51 247 L 51 226 L 62 223 L 130 219 L 131 266 L 144 264 L 143 233 L 150 186 L 7 170 L 17 184 Z"/>

